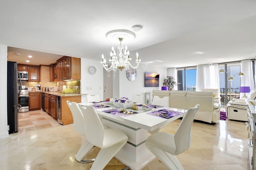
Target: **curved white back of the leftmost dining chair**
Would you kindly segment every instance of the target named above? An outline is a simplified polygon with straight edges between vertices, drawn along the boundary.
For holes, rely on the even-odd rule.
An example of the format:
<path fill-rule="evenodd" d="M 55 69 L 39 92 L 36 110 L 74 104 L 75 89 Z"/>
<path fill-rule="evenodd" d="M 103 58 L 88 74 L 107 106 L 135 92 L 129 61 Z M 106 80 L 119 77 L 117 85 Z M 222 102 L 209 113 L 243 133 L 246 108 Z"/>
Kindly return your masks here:
<path fill-rule="evenodd" d="M 76 102 L 70 102 L 67 100 L 68 107 L 72 113 L 73 116 L 73 127 L 74 130 L 79 133 L 80 135 L 85 135 L 85 121 L 84 116 L 82 114 L 82 111 L 79 109 Z"/>

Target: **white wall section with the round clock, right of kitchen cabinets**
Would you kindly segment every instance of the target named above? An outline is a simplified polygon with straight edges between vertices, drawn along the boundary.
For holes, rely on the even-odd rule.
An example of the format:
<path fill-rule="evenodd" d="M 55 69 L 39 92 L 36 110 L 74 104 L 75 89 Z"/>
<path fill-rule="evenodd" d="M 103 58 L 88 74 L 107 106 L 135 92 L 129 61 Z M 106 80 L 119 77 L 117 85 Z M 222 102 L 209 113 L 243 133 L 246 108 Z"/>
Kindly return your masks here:
<path fill-rule="evenodd" d="M 97 71 L 95 74 L 90 74 L 89 66 L 95 66 Z M 87 90 L 87 87 L 92 87 L 92 90 Z M 100 99 L 103 98 L 103 68 L 99 61 L 81 59 L 81 94 L 98 94 Z M 82 95 L 82 103 L 86 102 L 86 96 Z"/>

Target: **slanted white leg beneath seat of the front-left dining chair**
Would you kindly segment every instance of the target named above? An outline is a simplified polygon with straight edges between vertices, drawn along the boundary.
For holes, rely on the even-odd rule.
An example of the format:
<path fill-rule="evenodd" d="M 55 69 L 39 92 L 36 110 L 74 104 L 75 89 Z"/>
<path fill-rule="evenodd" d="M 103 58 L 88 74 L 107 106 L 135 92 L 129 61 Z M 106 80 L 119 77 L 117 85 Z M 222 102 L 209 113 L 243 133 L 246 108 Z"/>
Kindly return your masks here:
<path fill-rule="evenodd" d="M 127 140 L 121 141 L 106 149 L 100 149 L 90 170 L 103 170 L 108 162 L 116 155 L 116 153 L 126 144 Z"/>

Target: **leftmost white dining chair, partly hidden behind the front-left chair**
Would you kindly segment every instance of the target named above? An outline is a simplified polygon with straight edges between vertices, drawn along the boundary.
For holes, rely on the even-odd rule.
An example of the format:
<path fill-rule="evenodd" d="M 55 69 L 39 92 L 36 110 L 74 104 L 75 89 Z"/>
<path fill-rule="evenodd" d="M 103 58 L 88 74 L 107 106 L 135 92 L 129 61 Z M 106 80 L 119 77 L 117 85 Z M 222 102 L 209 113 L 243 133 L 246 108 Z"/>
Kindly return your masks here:
<path fill-rule="evenodd" d="M 68 107 L 72 113 L 73 116 L 73 127 L 74 130 L 79 133 L 80 135 L 85 136 L 86 134 L 86 123 L 84 121 L 84 116 L 82 114 L 82 111 L 76 104 L 76 102 L 69 102 L 68 100 L 66 101 L 68 104 Z M 92 143 L 89 143 L 87 140 L 84 141 L 80 149 L 75 155 L 75 159 L 77 162 L 80 163 L 90 163 L 93 162 L 95 159 L 90 159 L 90 160 L 82 160 L 82 158 L 87 154 L 87 152 L 92 149 L 94 145 Z"/>

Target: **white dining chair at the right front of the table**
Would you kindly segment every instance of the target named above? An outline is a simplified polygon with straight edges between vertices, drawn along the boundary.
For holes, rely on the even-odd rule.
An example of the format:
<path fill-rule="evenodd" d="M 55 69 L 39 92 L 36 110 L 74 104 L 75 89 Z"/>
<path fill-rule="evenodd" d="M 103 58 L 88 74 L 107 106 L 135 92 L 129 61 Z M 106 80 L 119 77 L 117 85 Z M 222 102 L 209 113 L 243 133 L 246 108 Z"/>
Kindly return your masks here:
<path fill-rule="evenodd" d="M 192 124 L 198 107 L 199 104 L 187 110 L 175 134 L 158 132 L 146 140 L 146 147 L 170 170 L 184 170 L 175 155 L 190 147 Z"/>

